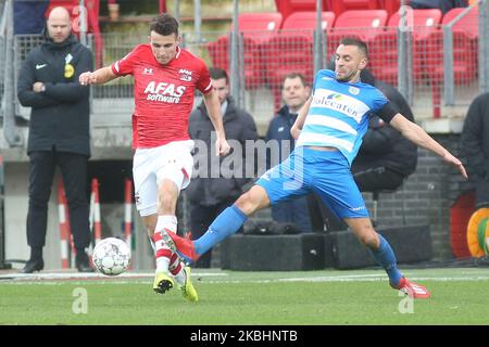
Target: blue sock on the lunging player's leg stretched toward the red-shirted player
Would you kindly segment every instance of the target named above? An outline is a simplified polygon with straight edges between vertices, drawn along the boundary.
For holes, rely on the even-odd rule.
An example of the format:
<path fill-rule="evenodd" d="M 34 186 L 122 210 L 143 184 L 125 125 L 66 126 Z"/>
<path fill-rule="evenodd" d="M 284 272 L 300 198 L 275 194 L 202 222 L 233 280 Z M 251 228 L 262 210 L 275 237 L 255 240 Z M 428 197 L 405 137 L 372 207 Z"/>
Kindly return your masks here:
<path fill-rule="evenodd" d="M 214 219 L 211 227 L 209 227 L 209 230 L 198 240 L 193 241 L 197 254 L 204 254 L 214 247 L 215 244 L 227 236 L 233 235 L 242 227 L 242 224 L 244 224 L 247 219 L 248 216 L 235 205 L 223 210 L 221 215 Z"/>

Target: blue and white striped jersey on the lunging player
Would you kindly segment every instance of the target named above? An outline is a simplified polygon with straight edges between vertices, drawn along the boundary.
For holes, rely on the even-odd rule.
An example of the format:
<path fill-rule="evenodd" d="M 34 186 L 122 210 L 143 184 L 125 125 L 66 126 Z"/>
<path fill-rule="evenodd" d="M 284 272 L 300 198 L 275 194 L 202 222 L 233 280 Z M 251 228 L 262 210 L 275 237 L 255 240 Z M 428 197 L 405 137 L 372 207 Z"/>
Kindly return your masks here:
<path fill-rule="evenodd" d="M 371 112 L 379 112 L 388 100 L 375 87 L 336 80 L 336 74 L 322 69 L 313 85 L 313 100 L 296 146 L 337 147 L 353 162 L 368 127 Z"/>

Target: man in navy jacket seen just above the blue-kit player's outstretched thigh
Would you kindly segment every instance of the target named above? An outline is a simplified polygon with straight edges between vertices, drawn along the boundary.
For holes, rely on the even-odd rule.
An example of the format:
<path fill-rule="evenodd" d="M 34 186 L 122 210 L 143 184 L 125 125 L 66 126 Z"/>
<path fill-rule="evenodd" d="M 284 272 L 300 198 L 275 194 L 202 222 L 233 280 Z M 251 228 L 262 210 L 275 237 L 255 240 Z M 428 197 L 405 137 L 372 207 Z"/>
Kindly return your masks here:
<path fill-rule="evenodd" d="M 290 152 L 293 151 L 296 140 L 292 138 L 290 129 L 297 119 L 299 111 L 308 101 L 310 93 L 311 88 L 305 81 L 304 76 L 297 73 L 285 76 L 281 83 L 281 98 L 285 105 L 271 120 L 265 137 L 267 143 L 268 141 L 278 142 L 279 156 L 278 160 L 273 163 L 271 159 L 274 158 L 267 155 L 267 169 L 284 162 Z M 290 144 L 289 151 L 287 151 L 288 143 Z M 312 231 L 306 196 L 272 205 L 272 218 L 274 221 L 280 223 L 294 223 L 302 232 Z"/>

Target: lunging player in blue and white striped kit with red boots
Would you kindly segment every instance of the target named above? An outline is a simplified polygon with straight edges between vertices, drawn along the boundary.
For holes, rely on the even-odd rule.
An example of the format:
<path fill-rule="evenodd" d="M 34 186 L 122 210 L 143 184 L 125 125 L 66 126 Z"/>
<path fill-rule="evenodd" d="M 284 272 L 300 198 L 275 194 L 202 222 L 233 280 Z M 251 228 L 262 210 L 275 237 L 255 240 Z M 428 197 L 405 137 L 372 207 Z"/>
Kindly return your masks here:
<path fill-rule="evenodd" d="M 291 132 L 296 150 L 281 164 L 266 171 L 256 183 L 224 210 L 204 235 L 196 241 L 162 232 L 168 246 L 184 258 L 196 260 L 216 243 L 234 234 L 248 216 L 278 202 L 314 192 L 341 218 L 355 236 L 371 249 L 386 270 L 390 285 L 413 298 L 430 293 L 410 282 L 397 267 L 389 243 L 371 222 L 350 165 L 368 126 L 371 112 L 398 129 L 406 139 L 457 167 L 467 178 L 462 163 L 430 138 L 421 127 L 399 114 L 384 94 L 362 83 L 360 73 L 367 64 L 363 41 L 346 38 L 336 51 L 335 72 L 322 69 L 314 79 L 313 94 L 299 113 Z"/>

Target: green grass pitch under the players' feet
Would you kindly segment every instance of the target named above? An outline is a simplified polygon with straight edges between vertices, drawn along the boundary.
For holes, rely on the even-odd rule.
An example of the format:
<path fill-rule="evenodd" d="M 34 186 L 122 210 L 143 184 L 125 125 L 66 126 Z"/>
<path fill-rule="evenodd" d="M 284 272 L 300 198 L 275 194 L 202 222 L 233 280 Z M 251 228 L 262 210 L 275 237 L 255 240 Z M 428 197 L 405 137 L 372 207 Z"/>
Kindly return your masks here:
<path fill-rule="evenodd" d="M 154 294 L 152 279 L 143 275 L 57 280 L 2 274 L 0 324 L 489 323 L 489 269 L 410 269 L 404 273 L 426 285 L 432 297 L 408 300 L 389 287 L 380 270 L 196 269 L 197 304 L 185 301 L 178 288 Z"/>

